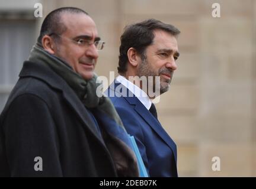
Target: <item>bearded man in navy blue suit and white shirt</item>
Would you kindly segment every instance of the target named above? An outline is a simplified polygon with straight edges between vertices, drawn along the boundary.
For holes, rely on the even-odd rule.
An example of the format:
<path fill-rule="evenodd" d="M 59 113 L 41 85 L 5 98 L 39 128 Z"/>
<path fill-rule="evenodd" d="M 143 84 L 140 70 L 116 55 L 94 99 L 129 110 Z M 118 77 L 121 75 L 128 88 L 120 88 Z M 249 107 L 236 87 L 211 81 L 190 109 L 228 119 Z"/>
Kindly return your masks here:
<path fill-rule="evenodd" d="M 151 101 L 169 89 L 172 74 L 177 69 L 178 34 L 180 31 L 173 25 L 156 19 L 126 27 L 121 35 L 117 68 L 120 76 L 106 92 L 127 132 L 135 136 L 151 177 L 178 176 L 175 142 L 162 128 Z M 143 77 L 148 82 L 146 89 Z M 155 96 L 149 94 L 152 88 L 156 90 Z"/>

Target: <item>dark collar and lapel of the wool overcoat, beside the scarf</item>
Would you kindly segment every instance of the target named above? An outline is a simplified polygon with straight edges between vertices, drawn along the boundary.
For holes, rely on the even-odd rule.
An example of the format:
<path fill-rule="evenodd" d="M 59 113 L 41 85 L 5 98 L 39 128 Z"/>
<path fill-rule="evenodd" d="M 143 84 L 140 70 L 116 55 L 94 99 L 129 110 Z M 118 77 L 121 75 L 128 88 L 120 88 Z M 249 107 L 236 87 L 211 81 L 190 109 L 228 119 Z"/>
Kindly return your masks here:
<path fill-rule="evenodd" d="M 92 120 L 89 115 L 88 110 L 82 105 L 81 100 L 75 94 L 75 92 L 68 86 L 65 80 L 55 73 L 50 67 L 39 63 L 32 63 L 31 61 L 25 61 L 23 64 L 23 69 L 19 75 L 20 78 L 23 77 L 34 77 L 47 83 L 50 87 L 55 90 L 62 92 L 63 98 L 68 102 L 69 106 L 72 107 L 76 115 L 84 123 L 82 124 L 85 129 L 89 129 L 95 137 L 101 141 L 104 145 L 101 137 L 98 135 L 94 120 Z"/>

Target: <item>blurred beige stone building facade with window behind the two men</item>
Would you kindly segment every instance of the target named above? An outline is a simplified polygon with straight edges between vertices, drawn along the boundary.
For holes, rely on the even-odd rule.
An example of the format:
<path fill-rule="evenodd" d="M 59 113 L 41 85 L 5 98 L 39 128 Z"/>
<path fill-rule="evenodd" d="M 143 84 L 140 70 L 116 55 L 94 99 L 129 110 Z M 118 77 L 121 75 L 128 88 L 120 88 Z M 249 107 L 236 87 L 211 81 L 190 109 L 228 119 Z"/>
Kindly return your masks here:
<path fill-rule="evenodd" d="M 43 17 L 34 17 L 36 3 Z M 220 18 L 212 4 L 220 4 Z M 159 119 L 178 146 L 180 177 L 256 177 L 256 1 L 254 0 L 0 0 L 0 112 L 43 18 L 62 6 L 82 8 L 106 42 L 96 72 L 117 74 L 127 24 L 156 18 L 181 30 L 169 92 Z M 112 81 L 110 81 L 112 82 Z M 220 171 L 213 171 L 213 157 Z"/>

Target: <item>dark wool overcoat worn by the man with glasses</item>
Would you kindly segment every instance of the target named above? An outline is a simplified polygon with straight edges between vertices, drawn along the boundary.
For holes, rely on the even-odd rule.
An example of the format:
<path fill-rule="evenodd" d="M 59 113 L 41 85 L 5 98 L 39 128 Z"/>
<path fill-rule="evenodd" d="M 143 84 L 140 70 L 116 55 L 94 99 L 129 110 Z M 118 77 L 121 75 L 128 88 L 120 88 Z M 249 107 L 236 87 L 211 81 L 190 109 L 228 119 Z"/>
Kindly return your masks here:
<path fill-rule="evenodd" d="M 95 120 L 75 92 L 49 67 L 25 61 L 0 116 L 0 176 L 116 175 Z"/>

